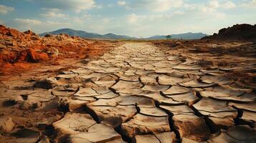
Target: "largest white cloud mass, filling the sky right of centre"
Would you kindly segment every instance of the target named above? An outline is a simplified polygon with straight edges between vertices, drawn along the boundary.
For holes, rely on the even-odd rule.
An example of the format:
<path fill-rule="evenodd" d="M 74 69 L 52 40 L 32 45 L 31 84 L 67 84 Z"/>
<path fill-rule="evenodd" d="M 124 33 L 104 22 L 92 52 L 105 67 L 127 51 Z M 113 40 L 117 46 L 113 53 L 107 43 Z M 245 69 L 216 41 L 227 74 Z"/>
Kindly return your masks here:
<path fill-rule="evenodd" d="M 227 2 L 228 0 L 212 0 L 200 4 L 191 4 L 184 1 L 183 4 L 176 5 L 179 9 L 171 7 L 170 11 L 160 13 L 152 11 L 147 14 L 134 12 L 126 15 L 125 19 L 121 20 L 120 29 L 123 29 L 125 34 L 137 36 L 179 34 L 189 31 L 202 31 L 210 34 L 222 27 L 219 25 L 226 22 L 224 19 L 229 18 L 222 9 L 231 9 L 234 6 L 226 5 L 227 7 L 224 8 L 223 4 L 230 4 Z M 130 6 L 130 3 L 128 3 L 128 6 Z"/>

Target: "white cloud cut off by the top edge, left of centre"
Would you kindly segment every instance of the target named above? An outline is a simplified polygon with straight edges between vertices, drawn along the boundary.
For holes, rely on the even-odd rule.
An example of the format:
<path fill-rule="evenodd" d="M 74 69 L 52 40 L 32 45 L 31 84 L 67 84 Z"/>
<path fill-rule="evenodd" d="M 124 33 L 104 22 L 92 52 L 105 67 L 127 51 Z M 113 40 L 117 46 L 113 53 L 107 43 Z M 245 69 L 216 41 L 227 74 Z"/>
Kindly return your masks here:
<path fill-rule="evenodd" d="M 39 4 L 46 8 L 61 10 L 72 10 L 76 12 L 93 9 L 97 7 L 94 0 L 37 0 Z"/>

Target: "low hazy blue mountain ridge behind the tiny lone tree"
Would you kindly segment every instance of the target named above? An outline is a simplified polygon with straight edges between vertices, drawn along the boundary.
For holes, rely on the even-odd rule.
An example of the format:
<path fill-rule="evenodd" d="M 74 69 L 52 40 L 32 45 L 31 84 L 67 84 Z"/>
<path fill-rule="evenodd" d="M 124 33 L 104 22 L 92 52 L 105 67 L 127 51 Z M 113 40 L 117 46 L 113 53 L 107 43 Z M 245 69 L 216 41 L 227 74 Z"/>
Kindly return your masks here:
<path fill-rule="evenodd" d="M 202 39 L 202 37 L 208 36 L 203 33 L 185 33 L 185 34 L 171 34 L 171 39 Z M 166 39 L 165 35 L 151 36 L 146 39 Z"/>

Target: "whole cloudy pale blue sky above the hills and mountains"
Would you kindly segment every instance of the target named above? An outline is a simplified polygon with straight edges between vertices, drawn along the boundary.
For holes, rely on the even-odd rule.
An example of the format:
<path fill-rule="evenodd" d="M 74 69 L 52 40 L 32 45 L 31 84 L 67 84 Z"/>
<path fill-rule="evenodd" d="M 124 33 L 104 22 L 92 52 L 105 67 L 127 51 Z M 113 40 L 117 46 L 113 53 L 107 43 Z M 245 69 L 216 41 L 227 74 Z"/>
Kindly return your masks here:
<path fill-rule="evenodd" d="M 62 28 L 98 34 L 213 34 L 256 24 L 256 0 L 0 0 L 0 24 L 37 34 Z"/>

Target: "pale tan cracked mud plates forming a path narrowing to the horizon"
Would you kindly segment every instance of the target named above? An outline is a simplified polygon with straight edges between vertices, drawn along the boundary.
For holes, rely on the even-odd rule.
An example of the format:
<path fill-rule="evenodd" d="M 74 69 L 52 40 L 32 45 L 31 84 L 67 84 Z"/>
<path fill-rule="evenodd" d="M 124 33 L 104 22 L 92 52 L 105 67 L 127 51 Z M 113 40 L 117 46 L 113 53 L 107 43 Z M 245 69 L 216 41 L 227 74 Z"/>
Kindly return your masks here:
<path fill-rule="evenodd" d="M 63 114 L 32 127 L 2 116 L 1 129 L 10 132 L 4 136 L 39 143 L 256 142 L 255 87 L 168 52 L 126 42 L 78 69 L 6 87 L 1 100 L 9 106 Z"/>

